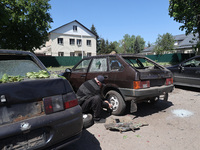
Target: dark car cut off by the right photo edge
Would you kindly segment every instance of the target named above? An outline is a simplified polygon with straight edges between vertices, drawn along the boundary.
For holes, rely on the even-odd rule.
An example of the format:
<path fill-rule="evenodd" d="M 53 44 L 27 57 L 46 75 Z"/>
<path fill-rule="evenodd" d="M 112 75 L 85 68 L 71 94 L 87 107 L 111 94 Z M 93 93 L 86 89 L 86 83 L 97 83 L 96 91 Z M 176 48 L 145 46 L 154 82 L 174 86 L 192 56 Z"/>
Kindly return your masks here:
<path fill-rule="evenodd" d="M 200 88 L 200 55 L 167 68 L 173 73 L 175 85 Z"/>

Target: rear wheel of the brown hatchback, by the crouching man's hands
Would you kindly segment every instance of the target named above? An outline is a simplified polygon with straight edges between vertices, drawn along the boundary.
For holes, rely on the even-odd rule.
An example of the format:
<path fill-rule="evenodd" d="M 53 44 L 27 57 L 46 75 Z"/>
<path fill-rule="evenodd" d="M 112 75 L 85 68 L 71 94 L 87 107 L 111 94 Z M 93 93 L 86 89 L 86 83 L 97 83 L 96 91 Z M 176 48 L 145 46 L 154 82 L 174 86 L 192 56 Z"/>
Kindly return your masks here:
<path fill-rule="evenodd" d="M 112 104 L 113 106 L 113 115 L 122 115 L 126 109 L 126 103 L 124 102 L 123 97 L 116 91 L 109 91 L 106 94 L 107 100 Z"/>

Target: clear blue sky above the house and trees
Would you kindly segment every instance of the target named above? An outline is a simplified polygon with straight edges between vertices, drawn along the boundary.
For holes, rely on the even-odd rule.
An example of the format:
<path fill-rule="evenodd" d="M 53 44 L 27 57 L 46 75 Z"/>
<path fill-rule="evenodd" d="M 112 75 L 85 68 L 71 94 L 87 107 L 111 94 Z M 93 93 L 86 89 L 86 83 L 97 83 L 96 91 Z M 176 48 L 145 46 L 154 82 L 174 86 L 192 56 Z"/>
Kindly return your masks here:
<path fill-rule="evenodd" d="M 170 18 L 169 0 L 50 0 L 51 30 L 77 20 L 86 28 L 92 25 L 98 35 L 109 42 L 125 34 L 140 35 L 147 45 L 158 35 L 185 34 L 182 25 Z"/>

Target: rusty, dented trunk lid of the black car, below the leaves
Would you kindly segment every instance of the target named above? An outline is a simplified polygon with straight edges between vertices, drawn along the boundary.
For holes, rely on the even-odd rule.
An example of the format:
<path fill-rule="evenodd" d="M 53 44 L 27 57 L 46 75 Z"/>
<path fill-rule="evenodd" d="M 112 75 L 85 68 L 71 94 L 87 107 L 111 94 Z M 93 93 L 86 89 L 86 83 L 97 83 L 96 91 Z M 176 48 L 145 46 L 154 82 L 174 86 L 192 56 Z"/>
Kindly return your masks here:
<path fill-rule="evenodd" d="M 44 115 L 42 98 L 72 92 L 67 82 L 56 78 L 0 84 L 0 126 Z"/>

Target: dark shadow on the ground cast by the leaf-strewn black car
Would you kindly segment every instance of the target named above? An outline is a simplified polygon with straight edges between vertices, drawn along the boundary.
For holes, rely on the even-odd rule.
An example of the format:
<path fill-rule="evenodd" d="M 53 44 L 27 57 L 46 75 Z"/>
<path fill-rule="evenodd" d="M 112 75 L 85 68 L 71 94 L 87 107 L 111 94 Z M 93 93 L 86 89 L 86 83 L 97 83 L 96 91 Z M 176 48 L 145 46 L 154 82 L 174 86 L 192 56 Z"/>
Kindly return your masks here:
<path fill-rule="evenodd" d="M 61 150 L 101 150 L 99 141 L 93 134 L 87 130 L 83 130 L 81 138 L 62 148 Z"/>

